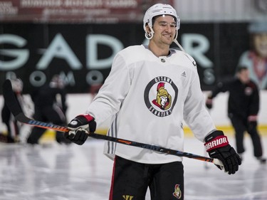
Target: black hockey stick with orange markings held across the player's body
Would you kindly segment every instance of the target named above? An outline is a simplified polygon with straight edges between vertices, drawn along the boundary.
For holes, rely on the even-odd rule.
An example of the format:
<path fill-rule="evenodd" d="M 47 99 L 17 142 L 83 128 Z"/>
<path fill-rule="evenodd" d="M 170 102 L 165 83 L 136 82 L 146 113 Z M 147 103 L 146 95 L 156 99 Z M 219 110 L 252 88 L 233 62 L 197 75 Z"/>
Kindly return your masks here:
<path fill-rule="evenodd" d="M 9 110 L 11 110 L 11 113 L 14 115 L 16 120 L 18 120 L 19 122 L 27 124 L 27 125 L 32 125 L 35 127 L 41 127 L 44 129 L 51 129 L 51 130 L 56 130 L 56 131 L 60 131 L 60 132 L 68 132 L 69 131 L 69 129 L 67 127 L 62 127 L 59 125 L 53 125 L 51 123 L 46 123 L 46 122 L 40 122 L 40 121 L 36 121 L 36 120 L 33 120 L 33 119 L 26 117 L 23 114 L 23 111 L 21 109 L 21 106 L 19 105 L 18 100 L 16 100 L 16 97 L 15 97 L 14 92 L 12 90 L 11 81 L 8 79 L 5 80 L 5 82 L 3 84 L 3 95 L 4 95 L 5 102 L 6 102 L 7 106 L 9 107 Z M 164 147 L 158 147 L 155 145 L 145 144 L 145 143 L 141 143 L 141 142 L 133 142 L 130 140 L 124 140 L 124 139 L 120 139 L 117 137 L 110 137 L 108 135 L 100 135 L 97 133 L 88 133 L 88 136 L 96 138 L 96 139 L 108 140 L 110 142 L 117 142 L 120 144 L 129 145 L 129 146 L 141 147 L 143 149 L 150 149 L 150 150 L 153 150 L 156 152 L 172 154 L 172 155 L 175 155 L 178 157 L 188 157 L 188 158 L 192 158 L 192 159 L 199 159 L 199 160 L 204 161 L 204 162 L 211 162 L 211 163 L 217 164 L 221 167 L 221 169 L 223 169 L 223 167 L 224 167 L 224 165 L 221 163 L 221 161 L 219 159 L 202 157 L 202 156 L 199 156 L 197 154 L 180 152 L 180 151 L 177 151 L 174 149 L 167 149 Z"/>

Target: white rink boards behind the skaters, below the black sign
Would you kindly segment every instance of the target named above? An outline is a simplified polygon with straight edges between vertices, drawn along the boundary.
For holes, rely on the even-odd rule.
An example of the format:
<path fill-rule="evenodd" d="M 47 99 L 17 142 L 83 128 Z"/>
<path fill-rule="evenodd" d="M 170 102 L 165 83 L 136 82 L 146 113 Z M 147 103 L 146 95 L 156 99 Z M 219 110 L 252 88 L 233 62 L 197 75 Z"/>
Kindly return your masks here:
<path fill-rule="evenodd" d="M 206 96 L 207 92 L 204 92 L 204 96 Z M 214 122 L 217 126 L 228 126 L 230 125 L 230 121 L 227 117 L 227 98 L 228 93 L 220 93 L 214 99 L 214 107 L 210 111 L 211 117 L 214 119 Z M 29 102 L 28 96 L 26 96 L 27 102 Z M 68 95 L 68 112 L 67 117 L 68 120 L 71 120 L 76 115 L 82 114 L 87 109 L 90 104 L 92 98 L 88 94 L 75 94 Z M 260 125 L 267 125 L 267 91 L 261 91 L 261 111 L 259 113 L 258 122 Z M 0 95 L 0 107 L 3 107 L 3 96 Z M 31 102 L 29 102 L 31 103 Z M 31 113 L 31 112 L 29 112 Z M 31 117 L 31 116 L 28 116 Z M 1 116 L 0 116 L 1 118 Z M 101 127 L 106 128 L 109 125 L 109 121 L 105 122 Z M 0 122 L 0 132 L 6 130 L 5 125 Z"/>

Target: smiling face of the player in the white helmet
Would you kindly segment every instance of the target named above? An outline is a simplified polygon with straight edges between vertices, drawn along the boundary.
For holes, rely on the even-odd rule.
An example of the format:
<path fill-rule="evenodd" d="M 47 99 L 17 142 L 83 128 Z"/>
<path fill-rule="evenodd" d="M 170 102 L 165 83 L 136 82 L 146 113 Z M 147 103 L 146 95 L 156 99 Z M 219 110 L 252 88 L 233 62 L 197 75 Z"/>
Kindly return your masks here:
<path fill-rule="evenodd" d="M 176 22 L 173 16 L 159 16 L 153 24 L 155 31 L 152 40 L 155 43 L 170 46 L 176 34 Z"/>

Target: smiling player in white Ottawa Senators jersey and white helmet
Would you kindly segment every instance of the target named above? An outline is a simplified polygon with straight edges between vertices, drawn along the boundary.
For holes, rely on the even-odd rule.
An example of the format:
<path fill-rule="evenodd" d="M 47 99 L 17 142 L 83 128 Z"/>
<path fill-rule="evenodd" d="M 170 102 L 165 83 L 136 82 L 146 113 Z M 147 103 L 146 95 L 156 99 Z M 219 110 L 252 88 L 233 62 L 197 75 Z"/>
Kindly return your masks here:
<path fill-rule="evenodd" d="M 94 132 L 113 116 L 108 135 L 125 140 L 183 150 L 185 120 L 211 157 L 235 174 L 241 159 L 216 130 L 207 112 L 194 59 L 169 48 L 180 27 L 179 16 L 168 4 L 155 4 L 144 16 L 148 46 L 130 46 L 117 53 L 110 75 L 86 114 L 68 124 L 65 136 L 83 144 L 87 131 Z M 214 145 L 210 145 L 214 144 Z M 124 144 L 106 142 L 105 154 L 114 159 L 110 188 L 112 199 L 184 199 L 182 157 L 160 154 Z"/>

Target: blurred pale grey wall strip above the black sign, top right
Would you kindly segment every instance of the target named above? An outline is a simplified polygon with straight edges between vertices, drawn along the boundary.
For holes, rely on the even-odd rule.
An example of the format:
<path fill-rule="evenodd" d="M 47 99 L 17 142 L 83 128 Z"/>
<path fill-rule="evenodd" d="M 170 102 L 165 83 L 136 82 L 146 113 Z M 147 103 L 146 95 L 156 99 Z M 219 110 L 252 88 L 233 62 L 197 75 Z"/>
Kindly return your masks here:
<path fill-rule="evenodd" d="M 263 0 L 266 1 L 266 0 Z M 175 0 L 181 23 L 266 20 L 266 3 L 256 0 Z"/>

